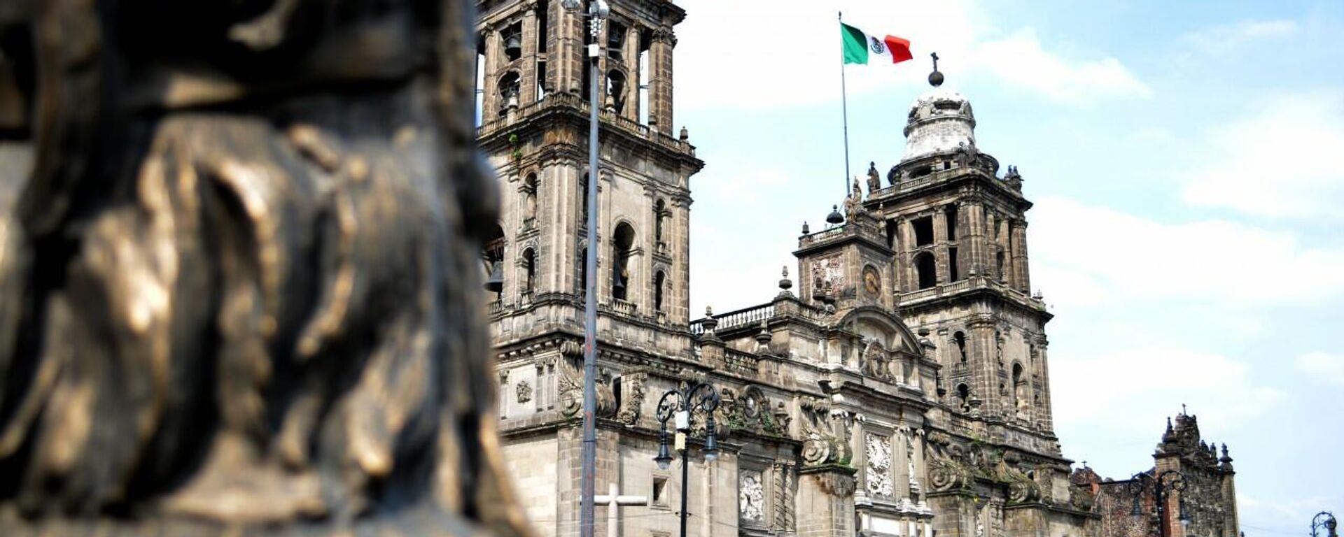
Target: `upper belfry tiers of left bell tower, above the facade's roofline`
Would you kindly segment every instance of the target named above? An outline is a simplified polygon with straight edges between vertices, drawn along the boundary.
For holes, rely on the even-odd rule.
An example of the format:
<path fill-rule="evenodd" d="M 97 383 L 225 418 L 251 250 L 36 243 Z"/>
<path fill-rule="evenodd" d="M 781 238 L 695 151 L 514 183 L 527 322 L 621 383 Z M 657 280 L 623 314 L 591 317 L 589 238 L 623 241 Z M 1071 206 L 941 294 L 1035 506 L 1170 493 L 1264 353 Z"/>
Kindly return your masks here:
<path fill-rule="evenodd" d="M 703 162 L 683 128 L 671 136 L 671 1 L 610 0 L 598 35 L 562 0 L 477 4 L 481 125 L 500 179 L 503 220 L 485 252 L 500 264 L 491 295 L 497 336 L 582 328 L 589 79 L 602 70 L 598 181 L 601 314 L 640 324 L 689 321 L 689 177 Z M 597 60 L 587 46 L 598 44 Z M 599 334 L 601 337 L 601 334 Z M 672 345 L 689 348 L 689 338 Z"/>

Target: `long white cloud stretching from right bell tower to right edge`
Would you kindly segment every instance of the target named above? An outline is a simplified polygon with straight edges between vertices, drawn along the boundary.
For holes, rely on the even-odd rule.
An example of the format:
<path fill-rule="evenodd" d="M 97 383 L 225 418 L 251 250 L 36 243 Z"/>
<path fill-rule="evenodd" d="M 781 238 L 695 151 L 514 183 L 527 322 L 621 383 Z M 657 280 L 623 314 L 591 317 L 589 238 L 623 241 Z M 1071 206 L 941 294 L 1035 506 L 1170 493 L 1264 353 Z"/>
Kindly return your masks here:
<path fill-rule="evenodd" d="M 1344 251 L 1228 220 L 1161 223 L 1062 197 L 1032 209 L 1034 278 L 1051 302 L 1246 309 L 1344 295 Z M 1219 313 L 1219 315 L 1226 311 Z"/>

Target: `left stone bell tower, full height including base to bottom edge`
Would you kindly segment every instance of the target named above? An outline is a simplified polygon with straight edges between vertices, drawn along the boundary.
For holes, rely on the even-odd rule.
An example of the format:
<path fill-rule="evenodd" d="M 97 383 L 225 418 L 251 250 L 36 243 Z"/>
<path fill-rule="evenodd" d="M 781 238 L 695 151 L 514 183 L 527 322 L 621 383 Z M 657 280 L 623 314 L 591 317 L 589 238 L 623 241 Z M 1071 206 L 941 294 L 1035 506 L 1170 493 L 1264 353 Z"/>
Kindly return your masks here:
<path fill-rule="evenodd" d="M 503 207 L 482 258 L 482 270 L 503 281 L 497 291 L 482 291 L 499 428 L 521 503 L 534 521 L 546 521 L 538 526 L 543 537 L 578 534 L 575 416 L 587 278 L 597 278 L 599 491 L 612 486 L 667 502 L 657 483 L 668 477 L 649 470 L 657 435 L 644 408 L 652 401 L 644 400 L 675 384 L 668 369 L 649 364 L 696 358 L 689 180 L 704 162 L 687 129 L 672 130 L 672 28 L 685 12 L 667 0 L 607 4 L 594 36 L 586 9 L 566 9 L 560 0 L 477 3 L 477 141 L 499 177 Z M 587 169 L 594 67 L 602 81 L 598 173 Z M 590 180 L 598 188 L 597 244 L 587 243 Z M 587 248 L 598 248 L 597 274 L 586 274 Z M 653 528 L 660 521 L 644 517 L 624 532 L 665 532 Z M 605 528 L 597 536 L 607 537 Z"/>

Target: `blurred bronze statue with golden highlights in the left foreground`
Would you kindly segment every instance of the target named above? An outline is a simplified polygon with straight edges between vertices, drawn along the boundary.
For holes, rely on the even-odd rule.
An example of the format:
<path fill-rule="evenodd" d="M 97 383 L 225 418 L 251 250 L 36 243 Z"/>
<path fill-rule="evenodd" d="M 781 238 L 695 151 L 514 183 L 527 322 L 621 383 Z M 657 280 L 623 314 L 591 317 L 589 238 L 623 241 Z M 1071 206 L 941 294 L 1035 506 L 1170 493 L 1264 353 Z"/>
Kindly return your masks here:
<path fill-rule="evenodd" d="M 465 0 L 0 3 L 0 534 L 524 534 Z"/>

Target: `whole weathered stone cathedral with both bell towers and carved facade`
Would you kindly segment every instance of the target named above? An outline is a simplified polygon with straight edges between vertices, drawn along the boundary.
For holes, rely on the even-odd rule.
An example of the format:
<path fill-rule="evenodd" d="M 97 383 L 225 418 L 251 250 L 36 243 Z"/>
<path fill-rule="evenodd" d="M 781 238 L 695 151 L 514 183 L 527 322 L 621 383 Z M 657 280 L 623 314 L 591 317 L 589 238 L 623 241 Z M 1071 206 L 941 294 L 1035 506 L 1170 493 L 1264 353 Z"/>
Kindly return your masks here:
<path fill-rule="evenodd" d="M 855 181 L 841 222 L 804 228 L 778 294 L 692 320 L 691 176 L 703 162 L 672 106 L 685 12 L 609 3 L 595 176 L 586 19 L 559 0 L 477 3 L 478 141 L 504 207 L 484 255 L 504 275 L 488 297 L 499 419 L 539 534 L 579 530 L 587 278 L 598 278 L 597 493 L 642 497 L 598 505 L 597 536 L 669 537 L 683 509 L 698 537 L 1098 534 L 1095 493 L 1071 483 L 1052 432 L 1031 203 L 1016 169 L 980 152 L 970 103 L 939 87 L 921 95 L 899 162 Z M 590 180 L 597 244 L 586 243 Z M 590 247 L 597 274 L 583 266 Z M 688 381 L 722 393 L 722 454 L 706 463 L 695 431 L 683 483 L 679 462 L 653 462 L 655 407 Z"/>

